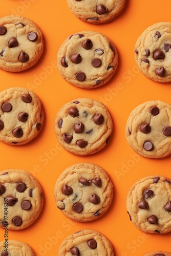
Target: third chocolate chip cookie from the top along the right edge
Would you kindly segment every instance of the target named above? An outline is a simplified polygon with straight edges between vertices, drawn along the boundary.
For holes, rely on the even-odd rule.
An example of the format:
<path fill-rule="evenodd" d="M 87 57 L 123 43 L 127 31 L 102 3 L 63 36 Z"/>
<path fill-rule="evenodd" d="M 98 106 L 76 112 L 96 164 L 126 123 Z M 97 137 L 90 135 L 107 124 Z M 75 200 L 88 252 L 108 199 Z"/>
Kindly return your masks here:
<path fill-rule="evenodd" d="M 129 190 L 126 208 L 130 220 L 147 233 L 171 231 L 171 179 L 147 176 Z"/>

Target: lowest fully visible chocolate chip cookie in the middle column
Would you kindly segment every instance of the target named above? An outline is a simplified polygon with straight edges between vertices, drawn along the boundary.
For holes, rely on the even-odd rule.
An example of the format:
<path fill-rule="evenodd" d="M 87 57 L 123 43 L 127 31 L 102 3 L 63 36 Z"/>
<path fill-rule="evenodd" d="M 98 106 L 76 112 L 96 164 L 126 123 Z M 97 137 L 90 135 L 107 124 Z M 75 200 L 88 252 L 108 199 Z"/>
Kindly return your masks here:
<path fill-rule="evenodd" d="M 92 163 L 74 164 L 56 181 L 55 201 L 67 217 L 76 221 L 92 221 L 110 207 L 113 184 L 103 168 Z"/>

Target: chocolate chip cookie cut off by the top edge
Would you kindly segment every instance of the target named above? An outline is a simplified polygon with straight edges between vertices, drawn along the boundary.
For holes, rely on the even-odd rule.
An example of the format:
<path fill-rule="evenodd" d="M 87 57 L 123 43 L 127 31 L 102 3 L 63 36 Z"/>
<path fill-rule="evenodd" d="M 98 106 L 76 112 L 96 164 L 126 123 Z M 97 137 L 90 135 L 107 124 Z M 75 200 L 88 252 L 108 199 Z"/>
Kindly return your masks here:
<path fill-rule="evenodd" d="M 123 10 L 126 0 L 67 0 L 72 13 L 84 22 L 100 24 L 113 20 Z"/>

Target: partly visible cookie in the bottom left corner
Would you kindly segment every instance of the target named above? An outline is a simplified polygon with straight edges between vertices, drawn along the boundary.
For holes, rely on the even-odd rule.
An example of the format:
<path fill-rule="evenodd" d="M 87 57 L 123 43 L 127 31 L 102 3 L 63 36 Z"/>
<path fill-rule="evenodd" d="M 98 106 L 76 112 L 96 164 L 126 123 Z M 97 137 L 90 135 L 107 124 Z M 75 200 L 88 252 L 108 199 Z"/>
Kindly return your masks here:
<path fill-rule="evenodd" d="M 6 248 L 7 247 L 7 248 Z M 16 240 L 8 240 L 0 242 L 0 255 L 1 256 L 35 256 L 32 248 L 23 242 Z"/>

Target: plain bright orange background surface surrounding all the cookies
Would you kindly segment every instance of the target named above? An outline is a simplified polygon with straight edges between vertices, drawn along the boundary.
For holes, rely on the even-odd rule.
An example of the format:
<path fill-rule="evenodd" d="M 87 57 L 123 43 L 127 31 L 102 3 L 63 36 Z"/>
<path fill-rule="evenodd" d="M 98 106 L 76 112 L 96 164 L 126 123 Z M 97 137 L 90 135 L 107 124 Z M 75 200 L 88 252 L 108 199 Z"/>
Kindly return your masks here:
<path fill-rule="evenodd" d="M 130 187 L 148 175 L 171 178 L 170 157 L 147 159 L 137 155 L 125 139 L 125 123 L 130 112 L 147 100 L 162 100 L 171 104 L 170 83 L 157 83 L 146 78 L 134 60 L 134 46 L 148 26 L 170 21 L 171 1 L 127 0 L 122 13 L 111 23 L 92 25 L 75 17 L 66 0 L 1 0 L 1 16 L 22 15 L 32 19 L 45 39 L 41 59 L 31 69 L 10 73 L 0 71 L 1 91 L 24 87 L 34 91 L 45 109 L 46 120 L 39 136 L 23 146 L 0 143 L 1 170 L 28 170 L 44 190 L 45 204 L 39 218 L 24 230 L 9 230 L 9 239 L 27 242 L 36 255 L 56 255 L 69 234 L 93 228 L 110 239 L 116 256 L 144 255 L 153 250 L 171 251 L 171 234 L 148 234 L 137 229 L 126 213 L 126 195 Z M 103 87 L 79 89 L 66 82 L 56 66 L 57 51 L 71 34 L 94 30 L 108 36 L 119 54 L 114 77 Z M 59 145 L 54 132 L 54 120 L 61 106 L 72 99 L 89 97 L 99 100 L 110 111 L 114 130 L 108 145 L 92 156 L 79 157 Z M 103 167 L 114 184 L 114 199 L 108 212 L 96 221 L 71 221 L 57 209 L 54 185 L 61 172 L 72 164 L 91 162 Z M 4 239 L 4 229 L 0 230 Z"/>

